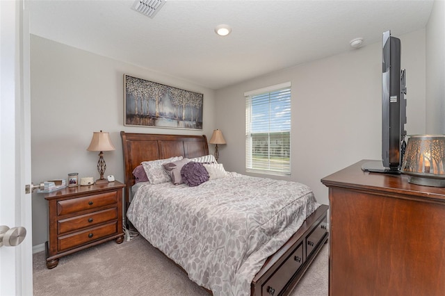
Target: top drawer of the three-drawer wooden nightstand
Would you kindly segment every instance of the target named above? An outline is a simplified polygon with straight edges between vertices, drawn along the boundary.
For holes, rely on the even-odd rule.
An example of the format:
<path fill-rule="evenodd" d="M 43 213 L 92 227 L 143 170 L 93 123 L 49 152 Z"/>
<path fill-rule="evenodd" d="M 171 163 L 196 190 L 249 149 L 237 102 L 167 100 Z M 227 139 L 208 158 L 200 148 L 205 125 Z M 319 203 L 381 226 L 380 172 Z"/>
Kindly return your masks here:
<path fill-rule="evenodd" d="M 57 215 L 66 215 L 86 211 L 91 208 L 108 206 L 118 202 L 117 192 L 106 192 L 88 197 L 78 197 L 75 199 L 65 199 L 57 202 Z"/>

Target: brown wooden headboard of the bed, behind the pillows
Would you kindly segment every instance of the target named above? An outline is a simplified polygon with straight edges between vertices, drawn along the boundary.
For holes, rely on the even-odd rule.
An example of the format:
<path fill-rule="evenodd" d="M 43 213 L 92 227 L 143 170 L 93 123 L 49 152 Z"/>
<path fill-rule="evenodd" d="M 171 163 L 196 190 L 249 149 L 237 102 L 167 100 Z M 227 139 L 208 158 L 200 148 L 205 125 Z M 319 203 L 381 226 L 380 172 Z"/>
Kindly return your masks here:
<path fill-rule="evenodd" d="M 134 185 L 133 170 L 143 161 L 183 156 L 193 158 L 209 154 L 206 135 L 164 135 L 120 132 L 124 154 L 125 211 Z"/>

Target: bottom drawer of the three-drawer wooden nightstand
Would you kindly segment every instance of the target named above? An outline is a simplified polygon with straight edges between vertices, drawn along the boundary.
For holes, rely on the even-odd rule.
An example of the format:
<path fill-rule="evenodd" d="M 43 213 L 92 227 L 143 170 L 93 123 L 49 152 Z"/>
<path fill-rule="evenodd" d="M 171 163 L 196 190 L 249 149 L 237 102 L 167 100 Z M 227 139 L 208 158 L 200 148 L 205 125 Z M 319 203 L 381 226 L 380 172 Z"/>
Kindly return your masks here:
<path fill-rule="evenodd" d="M 60 252 L 67 249 L 72 249 L 74 247 L 79 247 L 80 245 L 88 244 L 95 240 L 110 236 L 114 233 L 118 233 L 118 222 L 86 229 L 67 236 L 60 236 L 57 239 L 58 250 Z"/>

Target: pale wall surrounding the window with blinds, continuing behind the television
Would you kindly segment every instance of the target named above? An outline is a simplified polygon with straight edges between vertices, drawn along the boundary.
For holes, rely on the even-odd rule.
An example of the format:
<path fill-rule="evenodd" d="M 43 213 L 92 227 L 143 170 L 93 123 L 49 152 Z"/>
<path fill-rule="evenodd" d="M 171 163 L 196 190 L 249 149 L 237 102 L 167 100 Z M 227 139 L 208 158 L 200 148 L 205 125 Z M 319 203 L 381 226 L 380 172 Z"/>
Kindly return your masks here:
<path fill-rule="evenodd" d="M 425 133 L 425 30 L 395 37 L 401 38 L 407 69 L 405 128 Z M 227 141 L 220 162 L 226 170 L 248 174 L 243 94 L 291 81 L 292 175 L 287 179 L 307 184 L 318 202 L 328 204 L 320 182 L 324 176 L 362 159 L 381 159 L 381 48 L 378 42 L 217 90 L 216 127 Z"/>

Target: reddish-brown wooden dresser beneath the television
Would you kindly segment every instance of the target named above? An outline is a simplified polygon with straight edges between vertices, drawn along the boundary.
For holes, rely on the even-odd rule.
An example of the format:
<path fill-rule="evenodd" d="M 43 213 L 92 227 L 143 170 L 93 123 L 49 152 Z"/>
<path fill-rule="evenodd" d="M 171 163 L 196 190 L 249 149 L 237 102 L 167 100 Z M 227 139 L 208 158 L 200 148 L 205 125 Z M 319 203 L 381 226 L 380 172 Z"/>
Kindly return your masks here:
<path fill-rule="evenodd" d="M 445 295 L 445 188 L 362 172 L 365 162 L 321 180 L 330 200 L 329 295 Z"/>

